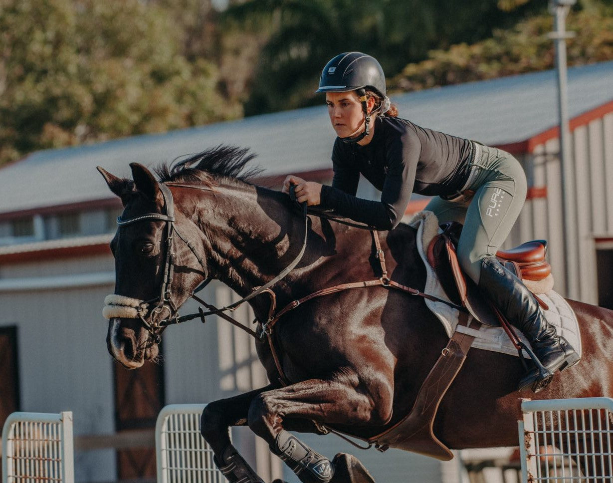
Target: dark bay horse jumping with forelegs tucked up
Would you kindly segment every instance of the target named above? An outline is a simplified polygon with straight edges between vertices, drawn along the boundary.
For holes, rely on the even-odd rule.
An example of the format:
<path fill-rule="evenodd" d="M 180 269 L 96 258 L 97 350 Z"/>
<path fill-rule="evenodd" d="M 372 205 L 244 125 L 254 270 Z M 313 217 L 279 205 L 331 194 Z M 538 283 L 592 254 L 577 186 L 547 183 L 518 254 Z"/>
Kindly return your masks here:
<path fill-rule="evenodd" d="M 300 212 L 285 194 L 240 175 L 250 158 L 245 150 L 220 146 L 172 170 L 158 169 L 159 181 L 139 164 L 131 164 L 134 181 L 99 169 L 124 205 L 111 243 L 113 300 L 139 310 L 139 316 L 120 314 L 109 321 L 109 352 L 124 366 L 137 368 L 156 356 L 159 338 L 146 325 L 173 316 L 207 276 L 245 297 L 299 253 L 305 236 Z M 178 230 L 172 257 L 166 190 Z M 390 278 L 424 289 L 416 230 L 401 224 L 380 238 Z M 325 287 L 371 280 L 379 270 L 370 232 L 310 216 L 304 256 L 272 289 L 282 307 Z M 153 301 L 149 310 L 142 301 Z M 259 295 L 249 303 L 257 319 L 266 321 L 270 299 Z M 444 444 L 516 446 L 521 397 L 612 394 L 613 311 L 569 303 L 581 325 L 581 362 L 538 394 L 520 394 L 519 358 L 472 349 L 438 409 L 433 429 Z M 357 460 L 337 455 L 329 462 L 287 430 L 319 433 L 325 424 L 357 438 L 378 435 L 409 413 L 448 337 L 423 299 L 379 286 L 300 305 L 275 325 L 273 340 L 289 384 L 280 384 L 268 344 L 256 343 L 270 384 L 209 403 L 202 417 L 202 434 L 232 483 L 261 481 L 230 444 L 232 425 L 249 425 L 303 482 L 371 481 Z"/>

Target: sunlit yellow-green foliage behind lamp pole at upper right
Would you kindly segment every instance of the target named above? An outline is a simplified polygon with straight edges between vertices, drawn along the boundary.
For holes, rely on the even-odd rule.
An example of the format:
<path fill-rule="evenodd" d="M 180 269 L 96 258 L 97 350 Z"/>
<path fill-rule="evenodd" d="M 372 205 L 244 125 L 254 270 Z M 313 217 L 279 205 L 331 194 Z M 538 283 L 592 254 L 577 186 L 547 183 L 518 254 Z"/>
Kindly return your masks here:
<path fill-rule="evenodd" d="M 575 32 L 566 42 L 570 66 L 613 59 L 612 13 L 611 7 L 600 2 L 583 2 L 570 13 L 566 26 Z M 414 91 L 552 69 L 555 48 L 548 34 L 553 28 L 551 15 L 539 15 L 512 29 L 497 29 L 492 38 L 473 45 L 433 50 L 427 60 L 408 64 L 390 85 L 398 91 Z"/>

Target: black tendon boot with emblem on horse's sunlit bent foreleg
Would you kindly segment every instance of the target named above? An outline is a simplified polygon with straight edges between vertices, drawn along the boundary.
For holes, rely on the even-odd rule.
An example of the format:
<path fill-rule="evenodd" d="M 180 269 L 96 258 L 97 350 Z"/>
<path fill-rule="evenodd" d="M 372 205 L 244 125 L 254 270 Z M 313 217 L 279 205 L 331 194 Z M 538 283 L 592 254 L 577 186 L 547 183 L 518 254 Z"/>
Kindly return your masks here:
<path fill-rule="evenodd" d="M 276 436 L 273 453 L 286 462 L 299 477 L 306 471 L 311 476 L 308 480 L 328 483 L 334 476 L 334 467 L 328 458 L 313 451 L 286 430 L 281 430 Z M 302 477 L 300 480 L 304 481 Z"/>

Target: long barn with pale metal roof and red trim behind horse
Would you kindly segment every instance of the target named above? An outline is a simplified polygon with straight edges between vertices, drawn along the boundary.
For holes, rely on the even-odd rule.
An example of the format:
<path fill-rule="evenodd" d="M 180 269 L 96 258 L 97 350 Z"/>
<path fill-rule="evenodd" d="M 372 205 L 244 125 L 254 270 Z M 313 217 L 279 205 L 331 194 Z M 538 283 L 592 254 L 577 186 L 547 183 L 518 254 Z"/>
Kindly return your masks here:
<path fill-rule="evenodd" d="M 613 308 L 613 62 L 569 69 L 577 225 L 577 287 L 565 286 L 562 189 L 554 72 L 539 72 L 392 96 L 400 116 L 424 127 L 511 151 L 528 174 L 528 202 L 506 246 L 546 238 L 562 294 Z M 212 319 L 164 335 L 163 362 L 126 371 L 107 353 L 102 300 L 113 292 L 108 243 L 121 207 L 96 172 L 128 176 L 128 163 L 156 165 L 224 144 L 249 146 L 265 169 L 261 184 L 287 173 L 329 182 L 333 131 L 326 109 L 305 108 L 163 135 L 41 151 L 0 169 L 0 422 L 11 411 L 72 410 L 76 435 L 150 428 L 161 406 L 214 400 L 264 385 L 248 336 Z M 376 197 L 368 184 L 360 195 Z M 416 199 L 409 207 L 425 204 Z M 570 293 L 569 293 L 570 292 Z M 204 297 L 235 297 L 211 284 Z M 186 310 L 193 309 L 189 305 Z M 248 308 L 238 316 L 249 320 Z M 319 451 L 353 452 L 380 481 L 455 482 L 456 461 L 399 451 L 357 452 L 335 436 L 306 436 Z M 294 481 L 267 445 L 238 430 L 262 475 Z M 77 452 L 77 481 L 137 477 L 151 452 Z M 150 474 L 150 473 L 149 473 Z"/>

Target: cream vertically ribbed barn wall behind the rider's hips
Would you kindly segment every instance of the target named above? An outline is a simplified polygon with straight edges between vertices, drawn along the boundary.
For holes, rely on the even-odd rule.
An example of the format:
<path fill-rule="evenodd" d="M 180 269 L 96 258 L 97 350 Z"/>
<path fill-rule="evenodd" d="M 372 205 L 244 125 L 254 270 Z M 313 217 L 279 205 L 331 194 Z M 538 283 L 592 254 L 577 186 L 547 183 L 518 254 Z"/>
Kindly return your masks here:
<path fill-rule="evenodd" d="M 528 184 L 546 187 L 547 196 L 528 200 L 514 237 L 546 238 L 557 291 L 597 304 L 595 238 L 613 234 L 613 113 L 576 127 L 571 141 L 572 156 L 568 162 L 572 165 L 573 177 L 569 180 L 572 188 L 569 196 L 574 209 L 568 216 L 568 223 L 573 227 L 568 240 L 571 248 L 568 260 L 564 248 L 562 167 L 557 138 L 539 143 L 525 158 Z M 569 287 L 565 281 L 566 270 L 573 274 Z"/>

